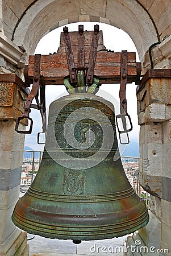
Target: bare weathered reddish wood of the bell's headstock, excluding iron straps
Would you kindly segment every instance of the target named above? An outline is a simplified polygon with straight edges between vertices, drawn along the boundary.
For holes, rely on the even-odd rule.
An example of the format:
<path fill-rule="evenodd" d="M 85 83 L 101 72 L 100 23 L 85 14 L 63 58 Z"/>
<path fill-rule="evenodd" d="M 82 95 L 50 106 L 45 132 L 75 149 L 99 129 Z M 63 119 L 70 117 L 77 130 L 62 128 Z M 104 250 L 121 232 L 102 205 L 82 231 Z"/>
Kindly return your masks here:
<path fill-rule="evenodd" d="M 88 67 L 93 31 L 85 31 L 85 68 Z M 78 68 L 78 32 L 69 32 L 74 57 L 74 67 Z M 99 31 L 97 57 L 95 61 L 94 75 L 103 83 L 120 82 L 121 52 L 106 51 L 103 46 L 102 31 Z M 135 80 L 137 76 L 137 63 L 135 52 L 128 52 L 128 82 Z M 34 56 L 29 57 L 28 77 L 34 76 Z M 65 76 L 69 76 L 68 63 L 65 51 L 64 34 L 61 33 L 60 47 L 53 55 L 41 57 L 41 79 L 43 84 L 63 84 Z"/>

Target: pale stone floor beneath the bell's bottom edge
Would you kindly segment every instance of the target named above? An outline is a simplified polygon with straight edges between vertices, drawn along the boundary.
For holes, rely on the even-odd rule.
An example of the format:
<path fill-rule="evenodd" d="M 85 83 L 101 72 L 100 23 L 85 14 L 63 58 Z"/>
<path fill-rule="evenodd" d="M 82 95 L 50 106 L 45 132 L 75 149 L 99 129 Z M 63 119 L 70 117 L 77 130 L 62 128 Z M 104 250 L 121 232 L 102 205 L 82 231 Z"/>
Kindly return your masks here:
<path fill-rule="evenodd" d="M 35 236 L 29 240 L 29 256 L 123 256 L 127 236 L 97 241 L 82 241 L 76 245 L 72 240 L 49 239 Z"/>

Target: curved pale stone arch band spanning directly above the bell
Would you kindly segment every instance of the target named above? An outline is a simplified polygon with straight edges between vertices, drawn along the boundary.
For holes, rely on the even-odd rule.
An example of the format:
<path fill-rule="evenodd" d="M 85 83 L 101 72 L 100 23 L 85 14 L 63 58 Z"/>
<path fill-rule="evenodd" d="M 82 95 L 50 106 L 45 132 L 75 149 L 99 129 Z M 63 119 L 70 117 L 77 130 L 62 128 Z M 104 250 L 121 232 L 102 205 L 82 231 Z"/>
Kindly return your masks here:
<path fill-rule="evenodd" d="M 143 60 L 148 47 L 157 41 L 152 20 L 135 0 L 38 0 L 16 27 L 14 43 L 24 47 L 30 55 L 49 31 L 68 23 L 84 21 L 103 22 L 126 31 L 135 43 L 140 60 Z"/>

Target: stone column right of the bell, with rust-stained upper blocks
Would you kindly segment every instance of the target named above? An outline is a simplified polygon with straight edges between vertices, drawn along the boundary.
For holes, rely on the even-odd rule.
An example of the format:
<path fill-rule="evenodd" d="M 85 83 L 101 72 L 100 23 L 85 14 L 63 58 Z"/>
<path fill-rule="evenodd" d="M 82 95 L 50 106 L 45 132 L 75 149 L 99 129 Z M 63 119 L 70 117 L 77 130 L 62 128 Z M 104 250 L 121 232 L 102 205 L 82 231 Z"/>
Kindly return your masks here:
<path fill-rule="evenodd" d="M 149 224 L 133 240 L 170 255 L 171 245 L 171 69 L 150 69 L 137 87 L 140 184 L 151 194 Z M 129 238 L 128 238 L 129 240 Z M 136 255 L 136 254 L 135 254 Z M 154 255 L 148 251 L 147 255 Z"/>

